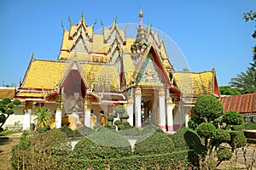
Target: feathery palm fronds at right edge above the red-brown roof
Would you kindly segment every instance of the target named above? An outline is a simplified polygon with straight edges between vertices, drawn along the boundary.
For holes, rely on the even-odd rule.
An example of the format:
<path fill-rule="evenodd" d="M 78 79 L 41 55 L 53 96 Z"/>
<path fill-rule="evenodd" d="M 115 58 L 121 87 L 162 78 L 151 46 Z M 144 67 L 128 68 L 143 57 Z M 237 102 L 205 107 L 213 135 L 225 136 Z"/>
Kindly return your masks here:
<path fill-rule="evenodd" d="M 241 94 L 256 93 L 256 71 L 248 68 L 246 72 L 241 72 L 235 78 L 231 78 L 230 86 L 239 90 Z"/>

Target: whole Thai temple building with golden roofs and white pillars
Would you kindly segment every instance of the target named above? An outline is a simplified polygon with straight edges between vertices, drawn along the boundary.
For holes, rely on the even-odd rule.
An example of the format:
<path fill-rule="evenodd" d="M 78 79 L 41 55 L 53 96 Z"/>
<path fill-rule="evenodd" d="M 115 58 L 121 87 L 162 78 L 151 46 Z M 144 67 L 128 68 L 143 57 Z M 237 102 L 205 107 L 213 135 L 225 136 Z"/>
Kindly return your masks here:
<path fill-rule="evenodd" d="M 82 14 L 77 25 L 63 26 L 56 60 L 32 59 L 15 92 L 24 104 L 23 129 L 29 129 L 38 105 L 53 114 L 54 127 L 73 116 L 76 127 L 100 124 L 116 105 L 124 105 L 128 122 L 136 127 L 153 123 L 173 132 L 187 126 L 191 108 L 201 94 L 219 97 L 215 70 L 174 71 L 166 47 L 139 13 L 136 37 L 126 37 L 117 20 L 95 33 Z M 170 57 L 172 58 L 172 56 Z M 75 127 L 74 127 L 75 128 Z"/>

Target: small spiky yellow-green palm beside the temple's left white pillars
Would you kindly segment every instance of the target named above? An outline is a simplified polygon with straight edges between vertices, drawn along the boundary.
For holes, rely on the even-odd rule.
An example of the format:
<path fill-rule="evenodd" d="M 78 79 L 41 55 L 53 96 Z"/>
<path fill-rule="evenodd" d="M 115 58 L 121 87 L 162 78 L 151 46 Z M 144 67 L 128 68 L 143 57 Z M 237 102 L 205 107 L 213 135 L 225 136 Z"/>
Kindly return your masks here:
<path fill-rule="evenodd" d="M 37 116 L 34 121 L 38 122 L 38 127 L 47 127 L 49 125 L 50 111 L 48 109 L 40 106 L 34 114 Z"/>

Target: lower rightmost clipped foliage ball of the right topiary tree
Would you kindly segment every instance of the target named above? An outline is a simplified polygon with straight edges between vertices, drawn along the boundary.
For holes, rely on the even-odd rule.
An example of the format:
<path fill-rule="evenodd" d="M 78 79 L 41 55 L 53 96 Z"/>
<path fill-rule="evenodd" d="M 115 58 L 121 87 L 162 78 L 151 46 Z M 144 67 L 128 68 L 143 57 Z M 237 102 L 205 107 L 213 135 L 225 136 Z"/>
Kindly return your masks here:
<path fill-rule="evenodd" d="M 230 131 L 230 141 L 228 142 L 232 150 L 241 148 L 247 144 L 247 139 L 242 131 Z"/>

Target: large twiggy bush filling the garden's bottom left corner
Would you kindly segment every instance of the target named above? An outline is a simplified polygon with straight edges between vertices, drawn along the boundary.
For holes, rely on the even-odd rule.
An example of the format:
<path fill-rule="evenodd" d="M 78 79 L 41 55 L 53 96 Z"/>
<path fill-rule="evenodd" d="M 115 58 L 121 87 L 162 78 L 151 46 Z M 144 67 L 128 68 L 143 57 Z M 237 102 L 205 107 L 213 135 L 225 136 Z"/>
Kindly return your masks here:
<path fill-rule="evenodd" d="M 20 143 L 13 150 L 11 162 L 14 169 L 57 169 L 63 163 L 63 156 L 71 153 L 67 134 L 60 129 L 31 133 L 27 137 L 30 141 L 28 147 L 21 149 L 20 144 L 24 143 Z"/>

